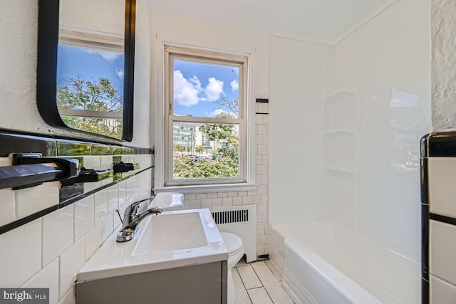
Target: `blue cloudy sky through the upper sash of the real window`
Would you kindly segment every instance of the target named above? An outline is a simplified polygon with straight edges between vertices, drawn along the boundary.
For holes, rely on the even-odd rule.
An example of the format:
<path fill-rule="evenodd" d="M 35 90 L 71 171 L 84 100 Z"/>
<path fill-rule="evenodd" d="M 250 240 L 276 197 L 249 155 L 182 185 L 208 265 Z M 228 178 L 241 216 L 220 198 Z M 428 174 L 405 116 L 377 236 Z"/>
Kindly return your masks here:
<path fill-rule="evenodd" d="M 222 111 L 215 101 L 237 98 L 239 68 L 175 60 L 173 89 L 176 115 L 215 117 Z"/>

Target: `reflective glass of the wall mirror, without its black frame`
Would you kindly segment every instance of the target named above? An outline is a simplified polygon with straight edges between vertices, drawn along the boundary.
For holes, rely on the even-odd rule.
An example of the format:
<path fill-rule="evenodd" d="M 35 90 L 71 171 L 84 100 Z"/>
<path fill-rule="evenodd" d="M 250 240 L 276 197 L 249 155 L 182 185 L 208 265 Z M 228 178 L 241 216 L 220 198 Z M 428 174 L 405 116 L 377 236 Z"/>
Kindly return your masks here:
<path fill-rule="evenodd" d="M 122 138 L 125 0 L 60 0 L 57 106 L 73 129 Z"/>

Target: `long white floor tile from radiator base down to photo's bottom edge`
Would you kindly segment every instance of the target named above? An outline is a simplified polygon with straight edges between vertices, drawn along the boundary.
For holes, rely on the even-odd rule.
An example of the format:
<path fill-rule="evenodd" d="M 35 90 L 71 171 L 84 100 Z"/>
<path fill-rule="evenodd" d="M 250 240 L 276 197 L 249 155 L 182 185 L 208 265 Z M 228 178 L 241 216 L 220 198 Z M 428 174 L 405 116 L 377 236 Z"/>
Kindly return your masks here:
<path fill-rule="evenodd" d="M 286 293 L 284 288 L 282 288 L 279 281 L 277 281 L 274 274 L 269 270 L 266 263 L 257 262 L 252 263 L 251 265 L 274 303 L 293 304 L 293 300 L 291 300 L 288 293 Z"/>

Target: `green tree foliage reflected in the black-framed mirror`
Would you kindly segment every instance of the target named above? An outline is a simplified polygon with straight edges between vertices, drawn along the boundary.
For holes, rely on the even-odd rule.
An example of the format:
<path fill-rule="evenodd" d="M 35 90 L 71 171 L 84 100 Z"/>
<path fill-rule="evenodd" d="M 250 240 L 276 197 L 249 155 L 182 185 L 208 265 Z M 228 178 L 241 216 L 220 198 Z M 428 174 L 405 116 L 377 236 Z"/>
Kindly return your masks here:
<path fill-rule="evenodd" d="M 108 78 L 90 81 L 76 75 L 66 80 L 65 85 L 57 87 L 59 109 L 122 112 L 122 100 L 123 95 L 113 87 Z M 62 115 L 62 120 L 74 129 L 122 138 L 121 119 Z"/>

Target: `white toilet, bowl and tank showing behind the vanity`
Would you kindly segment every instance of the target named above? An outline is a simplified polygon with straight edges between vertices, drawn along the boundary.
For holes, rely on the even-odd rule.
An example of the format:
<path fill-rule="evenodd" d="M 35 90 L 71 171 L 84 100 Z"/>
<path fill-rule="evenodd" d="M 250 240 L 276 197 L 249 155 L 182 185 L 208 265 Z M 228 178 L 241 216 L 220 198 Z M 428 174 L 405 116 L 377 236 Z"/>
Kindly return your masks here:
<path fill-rule="evenodd" d="M 161 206 L 165 211 L 183 210 L 184 204 L 182 203 L 184 194 L 176 192 L 162 192 L 158 193 L 149 205 Z M 222 239 L 228 250 L 228 276 L 227 276 L 227 290 L 228 300 L 227 304 L 234 304 L 236 302 L 236 292 L 234 290 L 234 282 L 232 276 L 232 269 L 236 266 L 237 262 L 244 256 L 244 246 L 242 239 L 235 234 L 220 231 Z"/>

